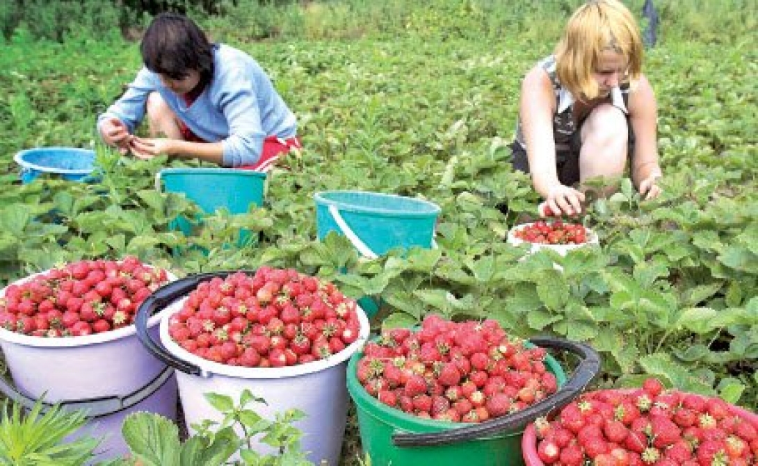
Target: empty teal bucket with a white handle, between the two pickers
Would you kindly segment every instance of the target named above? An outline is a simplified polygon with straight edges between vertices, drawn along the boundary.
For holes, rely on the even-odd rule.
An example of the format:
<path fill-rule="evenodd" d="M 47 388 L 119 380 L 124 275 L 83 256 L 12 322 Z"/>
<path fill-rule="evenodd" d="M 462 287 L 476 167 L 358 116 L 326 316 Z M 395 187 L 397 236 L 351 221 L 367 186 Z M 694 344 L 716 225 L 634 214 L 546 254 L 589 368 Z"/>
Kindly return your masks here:
<path fill-rule="evenodd" d="M 319 241 L 336 231 L 369 259 L 396 247 L 434 247 L 441 209 L 428 200 L 367 191 L 322 191 L 314 198 Z M 371 297 L 359 303 L 369 317 L 378 311 Z"/>

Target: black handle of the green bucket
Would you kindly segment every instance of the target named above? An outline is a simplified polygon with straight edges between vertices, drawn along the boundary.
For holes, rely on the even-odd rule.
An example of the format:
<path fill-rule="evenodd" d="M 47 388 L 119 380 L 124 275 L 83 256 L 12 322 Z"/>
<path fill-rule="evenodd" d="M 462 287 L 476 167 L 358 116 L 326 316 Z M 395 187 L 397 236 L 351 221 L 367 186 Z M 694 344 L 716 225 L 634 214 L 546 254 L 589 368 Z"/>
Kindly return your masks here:
<path fill-rule="evenodd" d="M 536 346 L 550 349 L 562 349 L 581 357 L 581 362 L 571 378 L 558 392 L 548 396 L 534 405 L 512 415 L 495 418 L 492 421 L 472 424 L 471 426 L 443 430 L 431 433 L 394 433 L 392 442 L 395 446 L 437 446 L 480 439 L 505 431 L 522 430 L 534 419 L 547 415 L 553 410 L 568 405 L 579 396 L 587 384 L 600 373 L 600 353 L 586 343 L 578 343 L 554 337 L 534 337 L 529 340 Z"/>

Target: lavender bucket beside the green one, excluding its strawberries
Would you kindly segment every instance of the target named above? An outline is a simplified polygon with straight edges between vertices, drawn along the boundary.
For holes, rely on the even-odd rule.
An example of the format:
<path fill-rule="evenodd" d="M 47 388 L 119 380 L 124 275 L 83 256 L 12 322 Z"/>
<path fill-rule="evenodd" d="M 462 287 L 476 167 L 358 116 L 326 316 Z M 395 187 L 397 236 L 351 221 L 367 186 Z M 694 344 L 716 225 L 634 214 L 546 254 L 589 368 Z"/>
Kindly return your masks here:
<path fill-rule="evenodd" d="M 301 447 L 315 464 L 339 464 L 340 452 L 347 421 L 349 397 L 346 390 L 347 360 L 368 339 L 368 318 L 361 311 L 359 338 L 340 353 L 327 359 L 319 359 L 302 365 L 283 368 L 243 368 L 218 364 L 199 358 L 174 343 L 168 335 L 171 315 L 181 309 L 183 299 L 202 281 L 213 277 L 225 277 L 233 272 L 215 272 L 194 275 L 165 285 L 148 297 L 137 311 L 136 327 L 140 340 L 158 358 L 177 368 L 179 396 L 184 419 L 188 427 L 205 419 L 221 422 L 222 415 L 205 399 L 205 393 L 221 393 L 239 399 L 243 390 L 250 390 L 266 401 L 255 412 L 273 420 L 278 412 L 299 409 L 305 418 L 293 425 L 302 431 Z M 149 315 L 160 306 L 168 304 L 160 312 L 160 343 L 145 331 Z M 190 432 L 193 432 L 190 428 Z M 276 451 L 263 443 L 255 449 L 264 454 Z"/>

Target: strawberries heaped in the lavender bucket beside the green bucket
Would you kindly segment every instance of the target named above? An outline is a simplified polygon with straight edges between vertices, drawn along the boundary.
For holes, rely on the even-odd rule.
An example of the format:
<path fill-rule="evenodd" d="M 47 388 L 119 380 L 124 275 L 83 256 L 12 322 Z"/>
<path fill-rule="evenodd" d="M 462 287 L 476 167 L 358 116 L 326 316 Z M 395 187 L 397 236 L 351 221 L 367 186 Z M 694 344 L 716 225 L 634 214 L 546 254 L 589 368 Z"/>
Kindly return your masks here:
<path fill-rule="evenodd" d="M 168 333 L 213 362 L 282 367 L 327 358 L 358 340 L 357 309 L 334 284 L 261 267 L 199 284 L 171 315 Z"/>

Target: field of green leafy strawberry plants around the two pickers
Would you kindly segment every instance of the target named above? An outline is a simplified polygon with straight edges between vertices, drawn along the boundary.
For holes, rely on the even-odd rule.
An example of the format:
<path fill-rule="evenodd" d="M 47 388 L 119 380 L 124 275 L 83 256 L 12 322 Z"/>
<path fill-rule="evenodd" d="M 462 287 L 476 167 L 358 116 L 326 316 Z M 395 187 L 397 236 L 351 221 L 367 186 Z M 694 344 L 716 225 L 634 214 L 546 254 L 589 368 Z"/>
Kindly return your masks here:
<path fill-rule="evenodd" d="M 95 133 L 96 115 L 140 65 L 137 43 L 84 27 L 54 42 L 28 25 L 2 39 L 2 287 L 80 259 L 127 256 L 178 277 L 296 269 L 346 296 L 380 300 L 374 333 L 430 314 L 492 319 L 518 337 L 588 343 L 603 357 L 592 388 L 640 387 L 653 376 L 756 411 L 753 2 L 656 2 L 659 42 L 644 72 L 659 103 L 663 194 L 643 201 L 619 180 L 616 194 L 592 199 L 578 220 L 600 247 L 565 256 L 506 241 L 541 200 L 512 170 L 508 146 L 522 76 L 550 53 L 578 2 L 313 2 L 281 7 L 280 36 L 264 40 L 240 19 L 258 11 L 240 3 L 236 16 L 199 22 L 268 71 L 298 117 L 304 149 L 269 174 L 262 207 L 207 215 L 192 235 L 171 222 L 198 207 L 156 190 L 155 174 L 199 165 L 122 157 Z M 627 3 L 640 11 L 642 2 Z M 21 184 L 14 154 L 44 146 L 94 148 L 97 179 Z M 326 190 L 436 203 L 437 248 L 365 259 L 341 236 L 318 241 L 313 196 Z M 240 228 L 255 244 L 238 244 Z M 343 464 L 359 458 L 351 417 Z"/>

